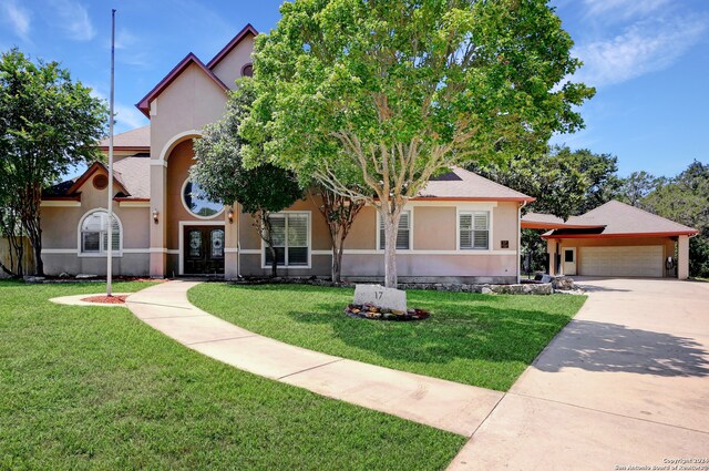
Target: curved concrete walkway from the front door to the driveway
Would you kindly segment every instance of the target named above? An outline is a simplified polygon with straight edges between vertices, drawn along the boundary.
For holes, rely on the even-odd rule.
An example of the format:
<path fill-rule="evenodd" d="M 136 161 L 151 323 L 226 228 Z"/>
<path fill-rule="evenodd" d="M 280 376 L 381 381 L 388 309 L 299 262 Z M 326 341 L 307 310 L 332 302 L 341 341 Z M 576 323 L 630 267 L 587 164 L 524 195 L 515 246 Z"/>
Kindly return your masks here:
<path fill-rule="evenodd" d="M 197 284 L 163 283 L 132 295 L 126 305 L 151 327 L 227 365 L 465 437 L 475 432 L 504 396 L 256 335 L 193 306 L 187 290 Z"/>

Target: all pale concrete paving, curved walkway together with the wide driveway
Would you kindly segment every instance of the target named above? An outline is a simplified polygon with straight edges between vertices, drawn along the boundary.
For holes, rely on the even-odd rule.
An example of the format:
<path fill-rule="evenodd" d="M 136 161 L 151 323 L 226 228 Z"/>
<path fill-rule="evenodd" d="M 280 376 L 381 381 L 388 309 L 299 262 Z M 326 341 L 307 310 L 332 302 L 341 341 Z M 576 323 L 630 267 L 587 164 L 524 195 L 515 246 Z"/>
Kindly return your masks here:
<path fill-rule="evenodd" d="M 709 458 L 709 284 L 582 280 L 584 308 L 504 395 L 255 335 L 192 306 L 195 284 L 161 284 L 126 304 L 225 364 L 471 437 L 451 470 L 671 469 Z"/>

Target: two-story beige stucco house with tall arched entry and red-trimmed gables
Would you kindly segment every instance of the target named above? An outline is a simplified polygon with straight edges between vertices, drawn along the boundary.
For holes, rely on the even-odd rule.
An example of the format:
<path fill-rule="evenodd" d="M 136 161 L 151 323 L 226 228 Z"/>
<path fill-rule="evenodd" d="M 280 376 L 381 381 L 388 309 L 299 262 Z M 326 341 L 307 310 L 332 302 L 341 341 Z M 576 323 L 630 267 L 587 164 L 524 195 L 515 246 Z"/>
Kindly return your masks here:
<path fill-rule="evenodd" d="M 267 250 L 250 216 L 195 196 L 188 170 L 193 140 L 218 120 L 235 80 L 251 72 L 257 32 L 244 28 L 206 64 L 187 54 L 137 107 L 150 126 L 114 140 L 115 222 L 106 217 L 107 172 L 94 164 L 43 196 L 48 274 L 105 274 L 106 234 L 114 234 L 115 275 L 172 277 L 267 275 Z M 106 151 L 105 142 L 101 143 Z M 402 281 L 517 280 L 520 209 L 533 198 L 462 168 L 431 181 L 402 216 Z M 276 215 L 280 273 L 329 276 L 331 245 L 317 202 L 305 198 Z M 364 207 L 347 239 L 342 276 L 383 278 L 381 227 Z"/>

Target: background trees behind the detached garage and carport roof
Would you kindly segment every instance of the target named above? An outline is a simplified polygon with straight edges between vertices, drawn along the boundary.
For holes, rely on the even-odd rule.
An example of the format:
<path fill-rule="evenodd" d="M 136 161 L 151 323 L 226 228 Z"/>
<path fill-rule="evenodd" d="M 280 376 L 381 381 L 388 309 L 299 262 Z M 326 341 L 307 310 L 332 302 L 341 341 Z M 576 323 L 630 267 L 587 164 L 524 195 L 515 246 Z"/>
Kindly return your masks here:
<path fill-rule="evenodd" d="M 567 219 L 618 199 L 693 227 L 699 235 L 689 244 L 690 276 L 709 277 L 709 164 L 695 161 L 676 176 L 641 171 L 620 177 L 617 163 L 612 154 L 552 146 L 542 154 L 473 164 L 469 170 L 537 198 L 525 212 Z M 532 256 L 532 270 L 542 269 L 545 262 L 541 233 L 522 231 L 522 248 Z"/>

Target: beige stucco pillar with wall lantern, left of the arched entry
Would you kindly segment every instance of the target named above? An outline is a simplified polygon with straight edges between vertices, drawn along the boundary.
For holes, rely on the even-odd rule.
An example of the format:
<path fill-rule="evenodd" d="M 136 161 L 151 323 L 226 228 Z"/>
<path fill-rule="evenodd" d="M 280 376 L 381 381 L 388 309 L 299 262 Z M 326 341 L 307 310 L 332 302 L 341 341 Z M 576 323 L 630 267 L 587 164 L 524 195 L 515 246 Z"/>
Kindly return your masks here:
<path fill-rule="evenodd" d="M 167 262 L 165 191 L 167 182 L 167 162 L 151 160 L 151 276 L 163 278 Z M 157 222 L 155 222 L 157 219 Z"/>

